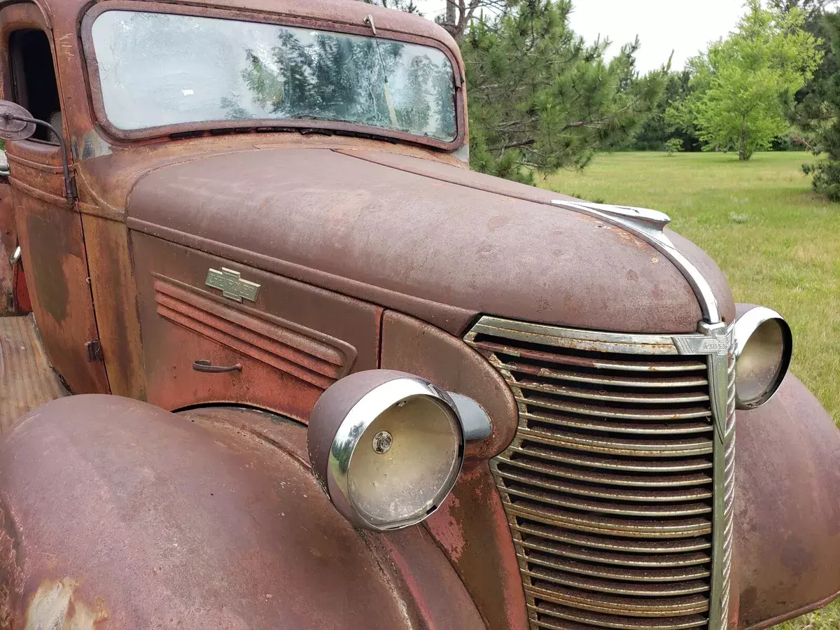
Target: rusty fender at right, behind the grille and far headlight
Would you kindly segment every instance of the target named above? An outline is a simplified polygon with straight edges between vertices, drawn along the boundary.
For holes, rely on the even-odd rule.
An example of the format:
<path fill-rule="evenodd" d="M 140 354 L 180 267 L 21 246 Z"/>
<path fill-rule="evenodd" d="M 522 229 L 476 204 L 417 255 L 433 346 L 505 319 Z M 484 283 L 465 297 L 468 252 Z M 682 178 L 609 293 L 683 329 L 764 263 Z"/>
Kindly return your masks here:
<path fill-rule="evenodd" d="M 738 412 L 737 449 L 738 627 L 757 630 L 840 594 L 840 432 L 789 374 Z"/>

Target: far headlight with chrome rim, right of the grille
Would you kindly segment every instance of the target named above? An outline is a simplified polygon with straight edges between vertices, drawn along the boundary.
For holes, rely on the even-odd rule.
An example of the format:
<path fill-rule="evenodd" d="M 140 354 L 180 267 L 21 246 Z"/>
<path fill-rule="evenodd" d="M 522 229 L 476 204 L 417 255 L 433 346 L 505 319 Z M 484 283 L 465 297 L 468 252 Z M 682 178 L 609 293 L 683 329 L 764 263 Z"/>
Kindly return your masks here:
<path fill-rule="evenodd" d="M 793 336 L 785 319 L 765 307 L 744 312 L 734 334 L 736 406 L 753 409 L 769 401 L 785 379 Z"/>

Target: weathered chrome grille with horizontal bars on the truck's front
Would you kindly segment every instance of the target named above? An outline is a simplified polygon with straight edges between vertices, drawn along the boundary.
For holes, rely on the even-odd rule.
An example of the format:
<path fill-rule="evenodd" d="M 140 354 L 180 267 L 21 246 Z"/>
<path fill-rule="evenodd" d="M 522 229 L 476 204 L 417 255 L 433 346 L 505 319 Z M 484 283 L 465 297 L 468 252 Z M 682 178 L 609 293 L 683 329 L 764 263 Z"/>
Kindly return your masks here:
<path fill-rule="evenodd" d="M 517 400 L 491 460 L 533 630 L 726 630 L 732 333 L 600 333 L 483 317 L 465 342 Z"/>

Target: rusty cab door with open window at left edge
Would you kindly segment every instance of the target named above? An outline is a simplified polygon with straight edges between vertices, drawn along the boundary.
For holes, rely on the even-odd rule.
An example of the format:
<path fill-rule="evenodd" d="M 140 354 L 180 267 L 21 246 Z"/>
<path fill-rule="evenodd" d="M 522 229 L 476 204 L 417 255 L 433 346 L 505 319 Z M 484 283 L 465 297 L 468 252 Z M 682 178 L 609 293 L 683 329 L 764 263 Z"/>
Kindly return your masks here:
<path fill-rule="evenodd" d="M 55 48 L 41 14 L 34 4 L 13 4 L 0 11 L 0 24 L 3 97 L 62 134 Z M 74 393 L 108 392 L 81 214 L 65 198 L 60 145 L 39 127 L 31 139 L 9 142 L 6 149 L 26 284 L 46 353 Z"/>

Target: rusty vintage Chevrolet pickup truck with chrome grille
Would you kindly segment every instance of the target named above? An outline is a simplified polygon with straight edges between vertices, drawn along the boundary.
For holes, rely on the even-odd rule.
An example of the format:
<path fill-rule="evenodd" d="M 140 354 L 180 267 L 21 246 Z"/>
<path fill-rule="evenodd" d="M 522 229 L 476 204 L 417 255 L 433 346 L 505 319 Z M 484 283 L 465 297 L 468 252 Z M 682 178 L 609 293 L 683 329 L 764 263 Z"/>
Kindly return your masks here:
<path fill-rule="evenodd" d="M 788 324 L 662 213 L 470 172 L 444 29 L 0 34 L 0 629 L 755 630 L 840 591 Z"/>

